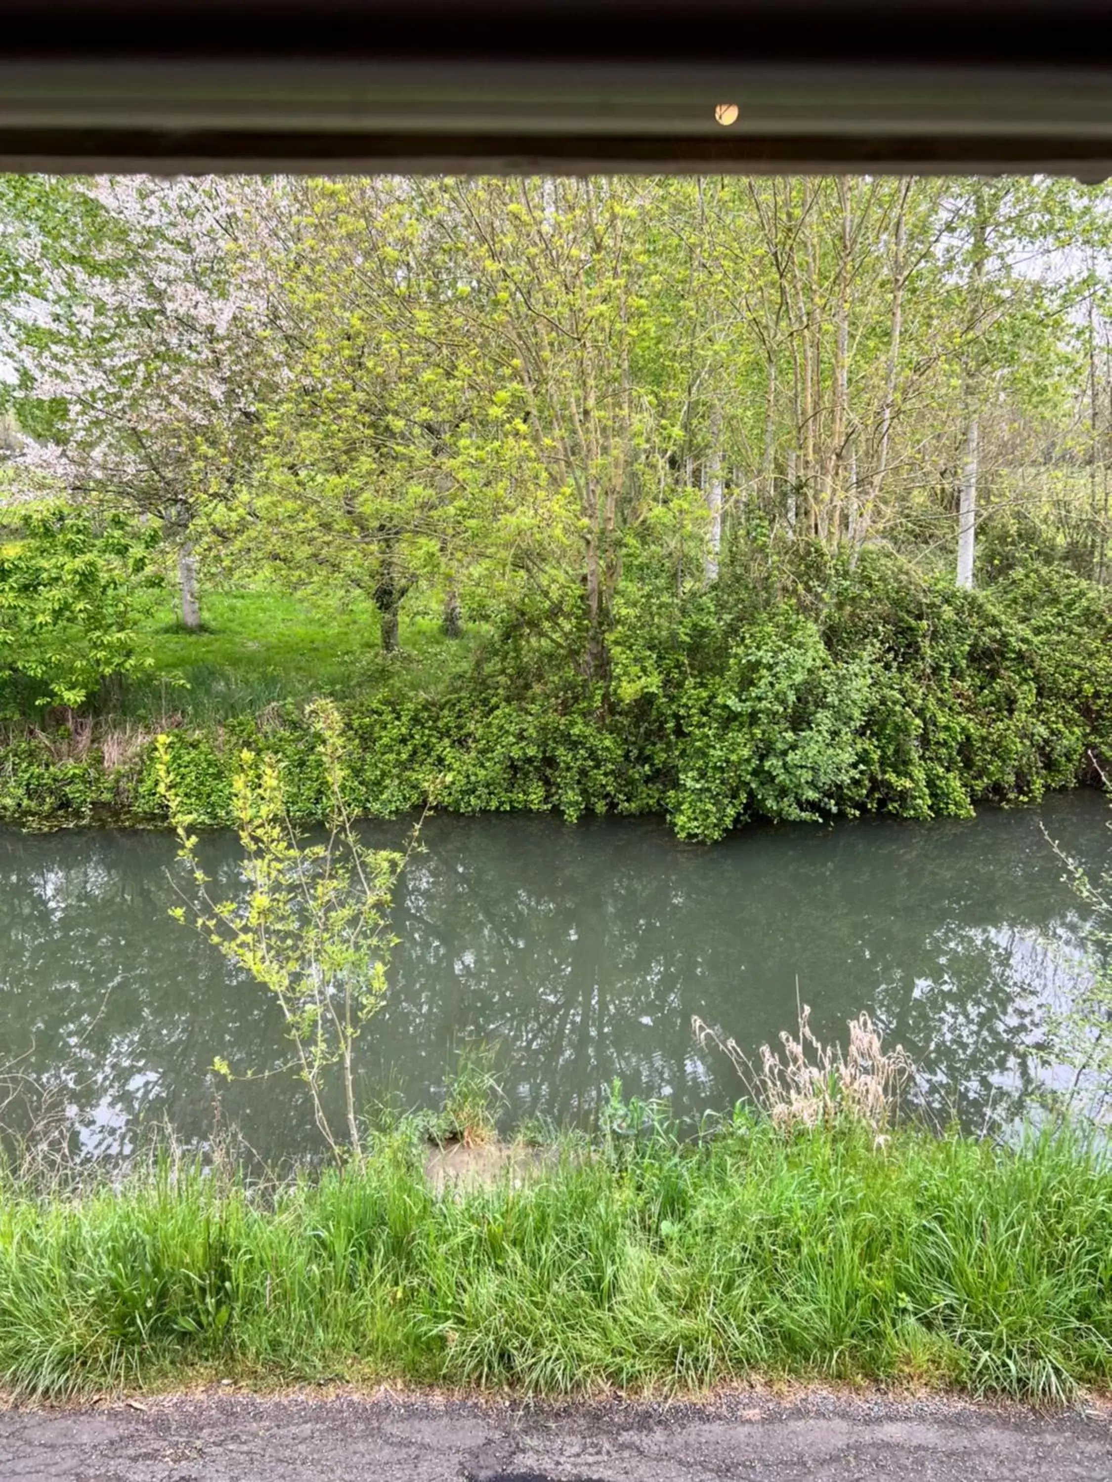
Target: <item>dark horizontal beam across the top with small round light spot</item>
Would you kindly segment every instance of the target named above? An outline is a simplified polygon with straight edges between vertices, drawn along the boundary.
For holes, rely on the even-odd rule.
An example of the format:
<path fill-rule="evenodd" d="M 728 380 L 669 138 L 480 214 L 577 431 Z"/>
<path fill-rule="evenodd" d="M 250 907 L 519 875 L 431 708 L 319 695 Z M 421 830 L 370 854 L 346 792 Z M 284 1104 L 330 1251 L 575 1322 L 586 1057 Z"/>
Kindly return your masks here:
<path fill-rule="evenodd" d="M 1103 178 L 1112 3 L 9 0 L 0 165 Z"/>

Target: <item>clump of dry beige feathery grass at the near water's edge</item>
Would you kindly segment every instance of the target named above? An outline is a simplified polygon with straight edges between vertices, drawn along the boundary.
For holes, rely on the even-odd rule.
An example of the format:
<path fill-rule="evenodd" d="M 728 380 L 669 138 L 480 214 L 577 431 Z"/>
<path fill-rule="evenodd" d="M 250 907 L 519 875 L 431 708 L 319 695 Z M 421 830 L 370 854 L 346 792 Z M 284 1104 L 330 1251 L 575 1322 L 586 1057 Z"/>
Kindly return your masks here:
<path fill-rule="evenodd" d="M 753 1101 L 781 1128 L 815 1128 L 848 1117 L 873 1132 L 896 1119 L 900 1100 L 915 1079 L 915 1066 L 901 1045 L 884 1048 L 881 1030 L 867 1014 L 850 1020 L 850 1043 L 823 1045 L 811 1030 L 811 1009 L 799 1009 L 798 1033 L 780 1034 L 783 1049 L 761 1046 L 755 1069 L 735 1039 L 722 1039 L 698 1015 L 691 1029 L 698 1043 L 715 1045 L 729 1060 Z"/>

